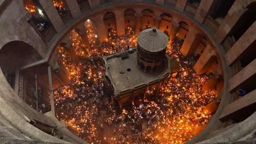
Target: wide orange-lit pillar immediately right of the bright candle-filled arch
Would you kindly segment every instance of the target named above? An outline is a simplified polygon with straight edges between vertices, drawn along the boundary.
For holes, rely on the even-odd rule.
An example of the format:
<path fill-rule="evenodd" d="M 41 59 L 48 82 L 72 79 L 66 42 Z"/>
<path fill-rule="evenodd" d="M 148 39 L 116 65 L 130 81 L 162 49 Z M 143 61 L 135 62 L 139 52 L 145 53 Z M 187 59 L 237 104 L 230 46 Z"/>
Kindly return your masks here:
<path fill-rule="evenodd" d="M 94 25 L 95 28 L 97 29 L 98 37 L 100 42 L 105 42 L 108 40 L 107 32 L 106 32 L 106 27 L 105 23 L 103 20 L 103 16 L 100 18 L 97 18 L 97 20 L 94 20 Z"/>

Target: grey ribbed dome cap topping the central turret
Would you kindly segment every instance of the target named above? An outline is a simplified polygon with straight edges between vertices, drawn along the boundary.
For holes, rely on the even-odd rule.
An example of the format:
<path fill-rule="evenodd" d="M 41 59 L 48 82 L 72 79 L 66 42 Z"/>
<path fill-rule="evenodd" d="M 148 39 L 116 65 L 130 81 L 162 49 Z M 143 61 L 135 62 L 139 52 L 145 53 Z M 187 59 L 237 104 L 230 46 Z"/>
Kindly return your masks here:
<path fill-rule="evenodd" d="M 168 45 L 168 37 L 156 27 L 145 29 L 138 35 L 137 43 L 148 52 L 160 52 Z"/>

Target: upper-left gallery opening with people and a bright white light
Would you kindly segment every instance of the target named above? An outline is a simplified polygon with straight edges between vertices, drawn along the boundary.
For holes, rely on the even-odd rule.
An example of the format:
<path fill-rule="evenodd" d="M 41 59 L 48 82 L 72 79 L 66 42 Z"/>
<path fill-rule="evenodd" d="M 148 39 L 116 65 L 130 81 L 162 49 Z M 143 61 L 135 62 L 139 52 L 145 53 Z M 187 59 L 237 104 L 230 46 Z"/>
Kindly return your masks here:
<path fill-rule="evenodd" d="M 36 30 L 38 35 L 44 42 L 50 41 L 54 36 L 56 30 L 50 23 L 49 18 L 44 14 L 39 2 L 34 3 L 32 0 L 23 0 L 24 8 L 31 15 L 28 22 Z"/>

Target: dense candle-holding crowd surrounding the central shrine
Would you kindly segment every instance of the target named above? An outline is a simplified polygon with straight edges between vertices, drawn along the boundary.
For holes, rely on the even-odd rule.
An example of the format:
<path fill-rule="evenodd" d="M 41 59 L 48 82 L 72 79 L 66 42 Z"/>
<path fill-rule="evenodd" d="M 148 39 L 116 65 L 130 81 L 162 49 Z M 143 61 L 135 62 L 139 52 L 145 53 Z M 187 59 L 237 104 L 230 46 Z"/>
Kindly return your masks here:
<path fill-rule="evenodd" d="M 127 29 L 126 34 L 92 43 L 89 50 L 78 35 L 73 35 L 77 64 L 59 48 L 62 63 L 70 73 L 70 84 L 54 91 L 56 117 L 65 120 L 78 137 L 93 144 L 171 144 L 190 140 L 195 128 L 211 118 L 203 108 L 215 95 L 201 91 L 211 75 L 196 75 L 193 66 L 197 59 L 184 57 L 181 45 L 172 42 L 167 54 L 179 61 L 179 76 L 162 86 L 157 96 L 145 101 L 135 99 L 134 105 L 120 110 L 111 102 L 113 91 L 103 78 L 106 68 L 101 57 L 135 47 L 132 29 Z"/>

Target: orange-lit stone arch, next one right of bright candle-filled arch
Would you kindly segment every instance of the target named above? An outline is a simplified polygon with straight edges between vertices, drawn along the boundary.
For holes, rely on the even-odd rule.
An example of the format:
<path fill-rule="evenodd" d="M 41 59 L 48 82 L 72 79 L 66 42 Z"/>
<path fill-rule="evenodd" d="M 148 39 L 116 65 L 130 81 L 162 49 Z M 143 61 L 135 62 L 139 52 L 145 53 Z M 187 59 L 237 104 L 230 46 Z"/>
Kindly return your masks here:
<path fill-rule="evenodd" d="M 104 20 L 106 29 L 108 30 L 108 28 L 112 28 L 113 33 L 116 33 L 116 15 L 115 15 L 115 13 L 111 12 L 111 11 L 105 13 L 103 20 Z"/>

